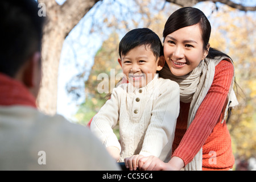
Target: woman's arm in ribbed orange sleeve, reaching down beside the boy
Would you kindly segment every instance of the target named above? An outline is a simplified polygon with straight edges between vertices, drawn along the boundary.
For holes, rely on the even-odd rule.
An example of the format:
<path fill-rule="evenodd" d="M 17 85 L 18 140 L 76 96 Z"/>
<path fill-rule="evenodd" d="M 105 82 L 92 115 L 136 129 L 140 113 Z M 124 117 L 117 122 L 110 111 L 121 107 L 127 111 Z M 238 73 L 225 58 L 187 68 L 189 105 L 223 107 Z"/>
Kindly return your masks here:
<path fill-rule="evenodd" d="M 195 119 L 172 155 L 183 159 L 185 165 L 191 162 L 203 147 L 205 140 L 220 120 L 221 111 L 232 83 L 233 71 L 233 65 L 225 60 L 216 66 L 212 86 L 197 110 Z"/>

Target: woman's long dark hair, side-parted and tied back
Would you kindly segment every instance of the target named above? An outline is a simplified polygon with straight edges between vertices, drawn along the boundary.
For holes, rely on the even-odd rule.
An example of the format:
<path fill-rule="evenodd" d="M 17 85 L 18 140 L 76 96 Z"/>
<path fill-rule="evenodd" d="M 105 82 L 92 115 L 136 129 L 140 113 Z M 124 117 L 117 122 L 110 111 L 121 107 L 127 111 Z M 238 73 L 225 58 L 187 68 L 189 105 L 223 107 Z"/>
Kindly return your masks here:
<path fill-rule="evenodd" d="M 166 24 L 164 25 L 163 38 L 165 39 L 167 35 L 179 30 L 183 27 L 192 26 L 199 23 L 201 28 L 201 35 L 204 43 L 204 49 L 207 50 L 210 39 L 210 32 L 212 27 L 210 22 L 205 16 L 205 14 L 195 7 L 182 7 L 181 9 L 176 10 L 170 15 L 167 19 Z M 214 59 L 220 56 L 227 56 L 225 53 L 218 51 L 212 47 L 209 48 L 207 57 L 209 59 Z"/>

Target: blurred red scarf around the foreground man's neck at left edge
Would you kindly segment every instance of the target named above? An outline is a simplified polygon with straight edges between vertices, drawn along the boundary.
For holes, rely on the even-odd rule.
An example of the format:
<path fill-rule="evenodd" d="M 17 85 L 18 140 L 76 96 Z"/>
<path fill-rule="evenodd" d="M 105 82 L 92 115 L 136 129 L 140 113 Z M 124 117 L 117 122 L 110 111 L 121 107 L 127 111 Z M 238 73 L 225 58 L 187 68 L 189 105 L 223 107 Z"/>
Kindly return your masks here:
<path fill-rule="evenodd" d="M 36 99 L 21 82 L 0 73 L 0 105 L 23 105 L 36 108 Z"/>

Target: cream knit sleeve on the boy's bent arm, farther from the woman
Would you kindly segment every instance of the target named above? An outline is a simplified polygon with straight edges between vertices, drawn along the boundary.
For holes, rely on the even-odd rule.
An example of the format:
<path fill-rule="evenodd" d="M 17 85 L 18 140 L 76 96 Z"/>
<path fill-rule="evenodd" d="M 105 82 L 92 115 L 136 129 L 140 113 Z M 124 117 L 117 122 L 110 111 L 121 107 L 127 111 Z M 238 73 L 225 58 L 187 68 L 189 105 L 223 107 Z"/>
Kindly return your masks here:
<path fill-rule="evenodd" d="M 121 151 L 120 143 L 113 132 L 113 127 L 117 125 L 119 120 L 119 100 L 117 89 L 113 89 L 111 98 L 106 101 L 100 111 L 94 115 L 90 130 L 104 144 L 105 147 L 114 146 Z"/>

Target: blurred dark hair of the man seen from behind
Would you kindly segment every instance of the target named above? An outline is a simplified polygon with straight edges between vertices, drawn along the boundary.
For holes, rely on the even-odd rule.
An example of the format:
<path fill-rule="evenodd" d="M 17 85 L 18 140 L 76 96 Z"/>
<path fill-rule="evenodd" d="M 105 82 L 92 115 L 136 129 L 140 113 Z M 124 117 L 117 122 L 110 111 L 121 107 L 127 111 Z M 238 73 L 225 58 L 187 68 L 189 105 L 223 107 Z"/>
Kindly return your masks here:
<path fill-rule="evenodd" d="M 41 51 L 44 17 L 34 0 L 0 1 L 0 72 L 14 77 L 36 51 Z"/>

